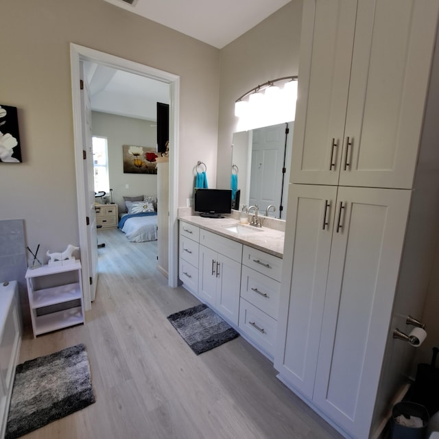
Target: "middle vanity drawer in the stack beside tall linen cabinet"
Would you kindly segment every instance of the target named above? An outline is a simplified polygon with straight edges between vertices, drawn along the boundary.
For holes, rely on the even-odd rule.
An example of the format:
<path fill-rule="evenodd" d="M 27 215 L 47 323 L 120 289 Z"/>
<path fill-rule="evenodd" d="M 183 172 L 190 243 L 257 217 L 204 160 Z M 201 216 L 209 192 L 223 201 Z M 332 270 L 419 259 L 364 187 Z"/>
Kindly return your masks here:
<path fill-rule="evenodd" d="M 277 320 L 281 283 L 242 265 L 241 297 Z"/>

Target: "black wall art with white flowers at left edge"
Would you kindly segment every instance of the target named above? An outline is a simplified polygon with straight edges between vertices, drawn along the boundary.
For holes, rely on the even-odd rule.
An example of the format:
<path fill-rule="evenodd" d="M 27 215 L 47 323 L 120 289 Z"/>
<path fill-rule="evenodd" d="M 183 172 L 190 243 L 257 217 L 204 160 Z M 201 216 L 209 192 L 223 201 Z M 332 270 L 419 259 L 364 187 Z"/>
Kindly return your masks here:
<path fill-rule="evenodd" d="M 16 107 L 0 105 L 0 162 L 21 163 Z"/>

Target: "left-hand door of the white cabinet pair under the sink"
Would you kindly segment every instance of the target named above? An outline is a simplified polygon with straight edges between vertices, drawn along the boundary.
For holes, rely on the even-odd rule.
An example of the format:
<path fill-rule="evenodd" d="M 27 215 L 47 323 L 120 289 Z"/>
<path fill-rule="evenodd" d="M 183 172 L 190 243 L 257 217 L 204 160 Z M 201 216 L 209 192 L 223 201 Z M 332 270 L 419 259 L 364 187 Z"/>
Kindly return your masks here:
<path fill-rule="evenodd" d="M 198 296 L 212 307 L 215 307 L 217 288 L 217 252 L 200 246 L 198 263 Z"/>

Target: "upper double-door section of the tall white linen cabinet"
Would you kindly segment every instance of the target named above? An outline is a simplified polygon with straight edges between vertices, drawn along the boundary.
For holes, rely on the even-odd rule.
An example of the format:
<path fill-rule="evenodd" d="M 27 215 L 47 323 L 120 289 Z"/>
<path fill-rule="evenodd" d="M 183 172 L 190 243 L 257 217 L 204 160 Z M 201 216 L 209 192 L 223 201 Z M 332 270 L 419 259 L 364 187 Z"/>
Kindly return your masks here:
<path fill-rule="evenodd" d="M 438 1 L 303 8 L 292 182 L 412 188 Z"/>

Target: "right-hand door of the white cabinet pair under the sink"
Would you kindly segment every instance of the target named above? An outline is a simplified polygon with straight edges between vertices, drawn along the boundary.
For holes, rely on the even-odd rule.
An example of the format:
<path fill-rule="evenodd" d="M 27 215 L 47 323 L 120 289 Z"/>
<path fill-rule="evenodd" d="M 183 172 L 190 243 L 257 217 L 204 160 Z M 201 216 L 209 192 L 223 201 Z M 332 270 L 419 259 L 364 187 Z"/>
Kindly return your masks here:
<path fill-rule="evenodd" d="M 216 308 L 230 322 L 238 324 L 239 289 L 241 287 L 241 264 L 222 254 L 217 255 L 218 281 Z"/>

